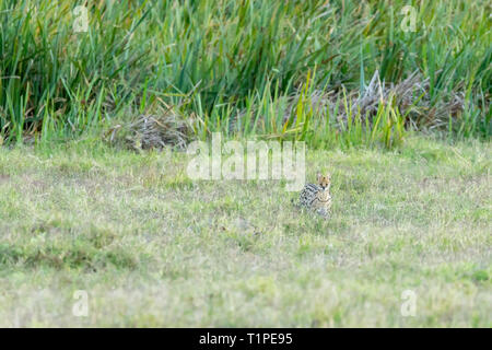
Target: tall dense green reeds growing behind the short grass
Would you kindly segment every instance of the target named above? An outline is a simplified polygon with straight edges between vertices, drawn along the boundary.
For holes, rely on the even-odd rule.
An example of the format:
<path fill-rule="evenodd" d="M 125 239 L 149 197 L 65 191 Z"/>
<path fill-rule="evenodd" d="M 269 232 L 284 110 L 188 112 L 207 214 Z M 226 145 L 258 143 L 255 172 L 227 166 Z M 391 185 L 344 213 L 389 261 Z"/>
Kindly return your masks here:
<path fill-rule="evenodd" d="M 363 93 L 376 71 L 387 84 L 414 71 L 427 80 L 425 103 L 407 116 L 419 130 L 490 138 L 485 0 L 98 0 L 86 7 L 89 31 L 75 33 L 73 10 L 84 3 L 0 3 L 0 142 L 78 137 L 173 106 L 201 139 L 246 115 L 232 133 L 366 143 L 366 133 L 387 139 L 387 126 L 351 110 L 349 126 L 364 132 L 354 131 L 308 102 L 316 91 Z M 408 4 L 415 32 L 400 27 Z M 285 100 L 300 94 L 284 120 Z"/>

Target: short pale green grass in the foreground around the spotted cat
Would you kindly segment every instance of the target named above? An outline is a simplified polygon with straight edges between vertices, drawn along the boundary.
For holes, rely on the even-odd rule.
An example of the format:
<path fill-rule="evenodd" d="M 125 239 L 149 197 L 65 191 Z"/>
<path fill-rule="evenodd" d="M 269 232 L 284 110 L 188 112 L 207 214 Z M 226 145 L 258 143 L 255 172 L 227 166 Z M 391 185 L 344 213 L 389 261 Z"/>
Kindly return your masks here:
<path fill-rule="evenodd" d="M 0 326 L 491 327 L 491 153 L 309 150 L 325 221 L 279 182 L 191 182 L 184 153 L 2 148 Z"/>

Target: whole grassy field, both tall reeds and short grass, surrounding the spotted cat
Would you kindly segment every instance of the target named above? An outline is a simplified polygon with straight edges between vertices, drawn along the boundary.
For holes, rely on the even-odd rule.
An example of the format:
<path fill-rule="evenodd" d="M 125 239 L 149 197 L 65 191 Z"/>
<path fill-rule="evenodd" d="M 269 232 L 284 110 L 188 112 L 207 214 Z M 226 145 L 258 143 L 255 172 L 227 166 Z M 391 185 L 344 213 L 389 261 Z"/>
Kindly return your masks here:
<path fill-rule="evenodd" d="M 0 1 L 0 326 L 491 327 L 491 9 Z M 215 132 L 332 215 L 191 180 Z"/>

